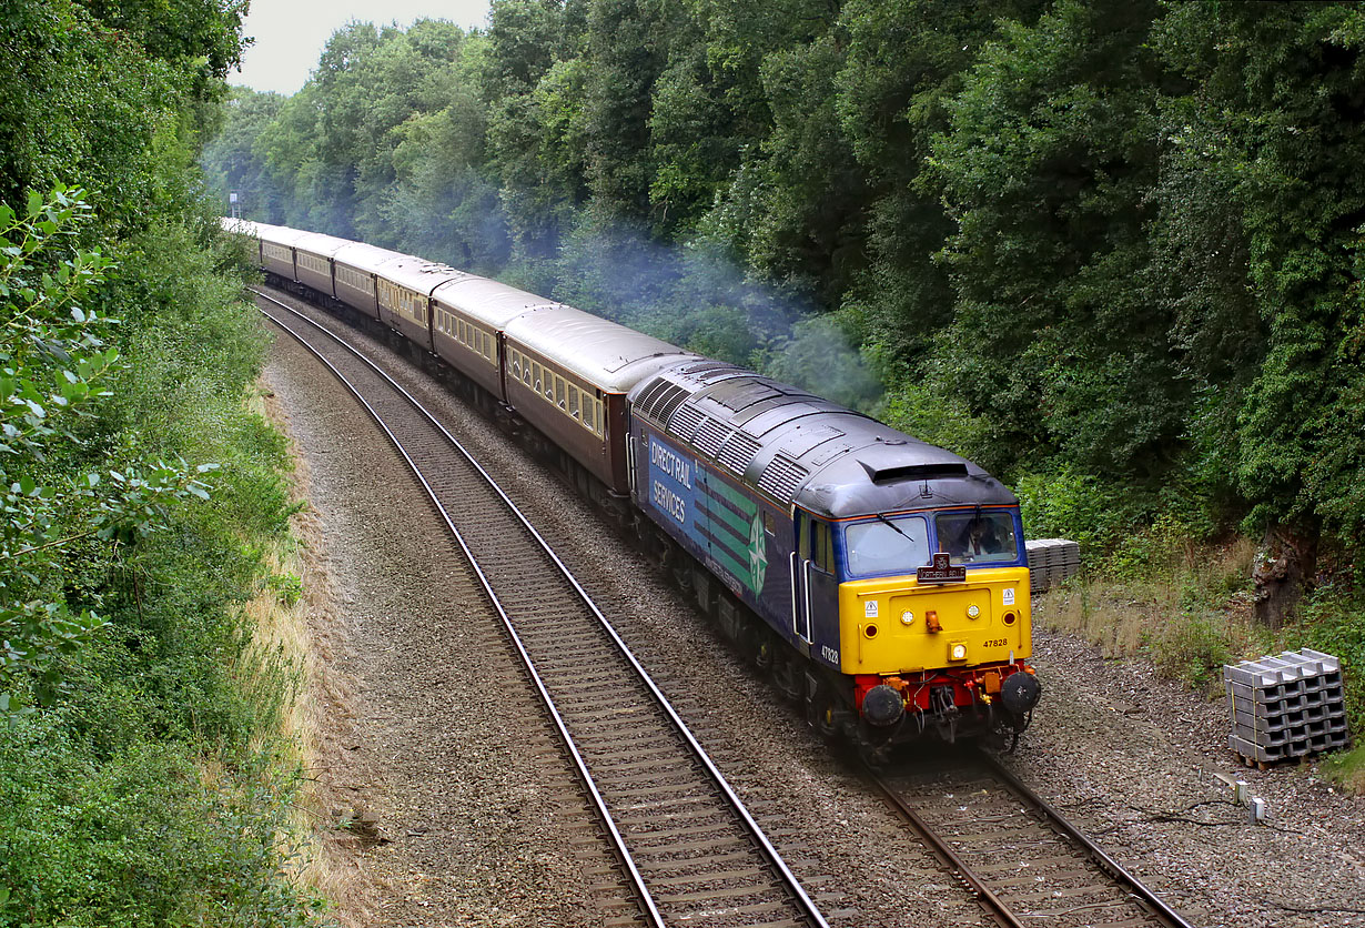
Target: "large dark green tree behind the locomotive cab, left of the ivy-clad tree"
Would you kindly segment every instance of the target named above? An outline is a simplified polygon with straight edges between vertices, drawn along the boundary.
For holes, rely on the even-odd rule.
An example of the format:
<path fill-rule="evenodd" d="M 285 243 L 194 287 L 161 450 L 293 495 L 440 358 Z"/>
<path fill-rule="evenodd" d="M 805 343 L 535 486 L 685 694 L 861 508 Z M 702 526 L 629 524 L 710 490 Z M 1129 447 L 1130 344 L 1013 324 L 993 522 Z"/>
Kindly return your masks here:
<path fill-rule="evenodd" d="M 957 231 L 947 390 L 994 423 L 996 468 L 1061 453 L 1160 474 L 1188 386 L 1153 299 L 1155 4 L 1058 3 L 981 52 L 934 145 Z"/>

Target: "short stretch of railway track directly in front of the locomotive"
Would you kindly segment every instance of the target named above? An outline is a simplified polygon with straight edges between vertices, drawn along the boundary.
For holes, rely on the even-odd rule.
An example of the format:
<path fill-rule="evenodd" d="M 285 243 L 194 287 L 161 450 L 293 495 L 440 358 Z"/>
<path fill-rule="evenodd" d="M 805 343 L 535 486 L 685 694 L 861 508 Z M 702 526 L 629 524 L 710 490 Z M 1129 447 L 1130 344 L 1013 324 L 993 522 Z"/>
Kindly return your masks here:
<path fill-rule="evenodd" d="M 986 752 L 871 779 L 1003 928 L 1192 928 Z"/>

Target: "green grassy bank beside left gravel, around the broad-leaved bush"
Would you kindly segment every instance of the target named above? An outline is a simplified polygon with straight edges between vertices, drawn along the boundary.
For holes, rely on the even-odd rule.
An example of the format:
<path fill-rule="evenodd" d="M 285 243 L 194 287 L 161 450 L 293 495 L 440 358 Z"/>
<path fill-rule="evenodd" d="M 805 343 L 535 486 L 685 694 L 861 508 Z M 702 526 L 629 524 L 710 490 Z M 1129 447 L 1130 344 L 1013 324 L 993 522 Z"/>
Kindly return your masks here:
<path fill-rule="evenodd" d="M 306 648 L 272 606 L 299 592 L 281 560 L 289 459 L 251 408 L 265 336 L 213 239 L 162 225 L 117 243 L 94 299 L 121 321 L 126 364 L 48 471 L 108 471 L 115 454 L 217 469 L 207 499 L 53 549 L 33 577 L 105 624 L 44 670 L 53 699 L 34 680 L 29 707 L 0 719 L 4 928 L 321 918 L 298 872 Z"/>

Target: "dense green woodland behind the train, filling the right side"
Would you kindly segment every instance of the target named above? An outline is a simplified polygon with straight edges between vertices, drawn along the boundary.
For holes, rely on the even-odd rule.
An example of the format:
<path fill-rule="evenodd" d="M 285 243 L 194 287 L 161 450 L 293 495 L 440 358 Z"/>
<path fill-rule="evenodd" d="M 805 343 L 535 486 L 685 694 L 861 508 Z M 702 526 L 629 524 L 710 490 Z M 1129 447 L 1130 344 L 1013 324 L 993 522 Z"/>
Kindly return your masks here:
<path fill-rule="evenodd" d="M 1327 532 L 1350 553 L 1362 16 L 498 0 L 486 31 L 449 37 L 460 67 L 412 57 L 457 109 L 324 68 L 207 162 L 232 162 L 240 131 L 308 203 L 266 197 L 259 218 L 364 225 L 788 375 L 814 333 L 842 344 L 803 322 L 829 314 L 882 378 L 880 400 L 854 390 L 868 408 L 1007 478 L 1123 487 L 1123 525 L 1175 508 L 1201 531 L 1304 551 Z M 366 33 L 356 74 L 423 29 Z M 330 154 L 311 115 L 347 108 L 384 128 Z"/>

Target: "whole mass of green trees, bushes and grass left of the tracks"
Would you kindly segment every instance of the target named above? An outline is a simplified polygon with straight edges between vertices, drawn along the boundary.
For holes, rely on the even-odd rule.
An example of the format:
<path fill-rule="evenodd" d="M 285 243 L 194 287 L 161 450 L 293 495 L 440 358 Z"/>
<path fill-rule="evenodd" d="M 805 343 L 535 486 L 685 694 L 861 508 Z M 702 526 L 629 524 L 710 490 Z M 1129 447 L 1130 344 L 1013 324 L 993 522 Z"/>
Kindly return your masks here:
<path fill-rule="evenodd" d="M 298 667 L 246 610 L 287 454 L 194 164 L 243 5 L 0 18 L 0 925 L 315 920 Z"/>

